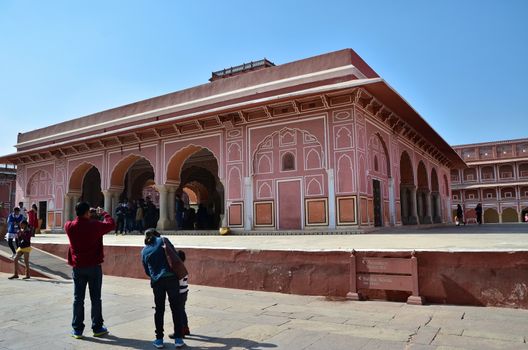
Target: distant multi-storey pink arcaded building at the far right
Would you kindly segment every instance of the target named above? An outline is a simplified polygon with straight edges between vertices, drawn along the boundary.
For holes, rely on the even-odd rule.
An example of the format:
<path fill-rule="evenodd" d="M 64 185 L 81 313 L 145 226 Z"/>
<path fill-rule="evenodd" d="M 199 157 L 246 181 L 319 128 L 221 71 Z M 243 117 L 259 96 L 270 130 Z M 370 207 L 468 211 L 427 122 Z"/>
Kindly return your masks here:
<path fill-rule="evenodd" d="M 525 222 L 528 213 L 528 139 L 453 146 L 468 165 L 451 170 L 452 215 L 460 204 L 475 219 L 482 203 L 484 223 Z"/>

